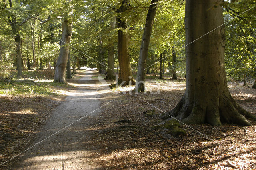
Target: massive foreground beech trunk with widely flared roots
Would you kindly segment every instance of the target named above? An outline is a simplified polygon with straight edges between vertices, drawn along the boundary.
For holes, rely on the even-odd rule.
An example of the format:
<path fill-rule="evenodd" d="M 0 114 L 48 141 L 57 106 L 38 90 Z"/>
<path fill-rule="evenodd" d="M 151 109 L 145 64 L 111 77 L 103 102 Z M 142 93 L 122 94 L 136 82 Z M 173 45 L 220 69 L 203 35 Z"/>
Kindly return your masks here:
<path fill-rule="evenodd" d="M 226 122 L 251 125 L 245 116 L 256 116 L 238 106 L 227 88 L 225 32 L 224 26 L 220 26 L 224 20 L 222 7 L 216 6 L 217 2 L 186 0 L 186 91 L 176 108 L 168 114 L 186 124 L 220 125 Z"/>

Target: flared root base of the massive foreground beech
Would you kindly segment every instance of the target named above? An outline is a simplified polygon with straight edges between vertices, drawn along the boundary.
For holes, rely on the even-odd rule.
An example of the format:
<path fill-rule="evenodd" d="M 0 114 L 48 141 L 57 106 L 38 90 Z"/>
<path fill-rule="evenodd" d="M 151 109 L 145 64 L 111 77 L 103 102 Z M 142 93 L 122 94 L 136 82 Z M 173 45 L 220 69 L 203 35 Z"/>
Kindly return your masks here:
<path fill-rule="evenodd" d="M 250 126 L 251 124 L 246 117 L 256 120 L 254 114 L 241 108 L 231 96 L 225 98 L 220 106 L 211 103 L 205 105 L 198 101 L 189 104 L 185 102 L 185 97 L 183 97 L 177 106 L 167 114 L 164 114 L 161 118 L 167 119 L 172 116 L 185 124 L 208 123 L 219 126 L 221 123 L 229 123 Z"/>

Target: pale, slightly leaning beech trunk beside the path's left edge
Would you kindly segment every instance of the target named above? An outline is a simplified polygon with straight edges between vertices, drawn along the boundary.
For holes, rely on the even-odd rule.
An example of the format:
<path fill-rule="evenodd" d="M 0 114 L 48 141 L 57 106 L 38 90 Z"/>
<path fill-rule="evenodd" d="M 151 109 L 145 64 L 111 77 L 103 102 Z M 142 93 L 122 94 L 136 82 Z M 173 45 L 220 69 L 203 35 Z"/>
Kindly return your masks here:
<path fill-rule="evenodd" d="M 54 81 L 66 82 L 66 64 L 68 62 L 69 46 L 72 35 L 72 21 L 62 21 L 62 37 L 60 42 L 60 53 L 56 63 Z"/>

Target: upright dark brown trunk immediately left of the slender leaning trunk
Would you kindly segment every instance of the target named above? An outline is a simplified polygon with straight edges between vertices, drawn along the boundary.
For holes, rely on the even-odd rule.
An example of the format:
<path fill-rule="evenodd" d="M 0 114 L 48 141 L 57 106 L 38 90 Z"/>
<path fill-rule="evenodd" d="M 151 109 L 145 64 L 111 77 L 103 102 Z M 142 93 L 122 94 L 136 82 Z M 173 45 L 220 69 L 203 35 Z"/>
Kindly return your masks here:
<path fill-rule="evenodd" d="M 132 68 L 130 64 L 130 56 L 129 56 L 129 37 L 126 31 L 127 29 L 127 19 L 122 17 L 122 14 L 127 10 L 128 2 L 127 0 L 122 1 L 122 5 L 117 10 L 117 23 L 118 23 L 118 39 L 117 39 L 117 48 L 118 48 L 118 62 L 119 62 L 119 76 L 118 76 L 118 84 L 123 83 L 122 85 L 128 85 L 129 81 L 132 84 L 135 84 L 135 80 L 132 76 Z"/>

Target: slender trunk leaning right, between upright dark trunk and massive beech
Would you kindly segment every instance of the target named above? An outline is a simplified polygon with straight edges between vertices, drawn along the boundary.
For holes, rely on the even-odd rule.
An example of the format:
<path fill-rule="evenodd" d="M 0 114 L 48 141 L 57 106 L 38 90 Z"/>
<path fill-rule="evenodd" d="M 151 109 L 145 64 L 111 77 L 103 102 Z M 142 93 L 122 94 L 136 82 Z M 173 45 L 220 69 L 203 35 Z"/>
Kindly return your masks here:
<path fill-rule="evenodd" d="M 158 0 L 151 0 L 150 7 L 148 9 L 148 14 L 146 17 L 146 24 L 144 27 L 144 32 L 142 35 L 141 45 L 140 45 L 140 57 L 138 62 L 137 77 L 136 77 L 136 92 L 145 91 L 145 68 L 146 59 L 148 57 L 148 46 L 150 43 L 150 37 L 152 33 L 154 18 L 156 16 L 156 10 L 158 6 Z"/>

